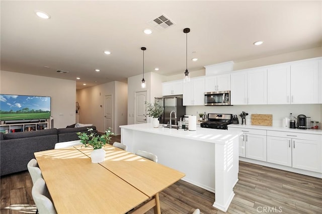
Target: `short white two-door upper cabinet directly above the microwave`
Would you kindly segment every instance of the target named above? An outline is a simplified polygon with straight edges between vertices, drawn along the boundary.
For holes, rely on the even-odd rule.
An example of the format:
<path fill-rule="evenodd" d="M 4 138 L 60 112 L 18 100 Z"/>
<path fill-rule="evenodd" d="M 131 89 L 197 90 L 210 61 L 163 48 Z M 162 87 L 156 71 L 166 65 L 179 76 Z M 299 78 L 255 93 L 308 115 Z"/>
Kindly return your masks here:
<path fill-rule="evenodd" d="M 205 77 L 205 92 L 230 90 L 230 74 Z"/>

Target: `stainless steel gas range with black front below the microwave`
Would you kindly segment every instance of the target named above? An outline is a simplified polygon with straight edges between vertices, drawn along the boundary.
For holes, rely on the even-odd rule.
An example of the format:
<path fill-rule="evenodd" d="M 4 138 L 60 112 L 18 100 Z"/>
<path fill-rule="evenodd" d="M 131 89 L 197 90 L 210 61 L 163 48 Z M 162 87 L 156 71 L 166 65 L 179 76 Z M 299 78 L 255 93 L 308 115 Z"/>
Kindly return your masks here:
<path fill-rule="evenodd" d="M 232 124 L 231 114 L 208 114 L 208 121 L 200 123 L 201 128 L 210 129 L 228 129 L 228 125 Z"/>

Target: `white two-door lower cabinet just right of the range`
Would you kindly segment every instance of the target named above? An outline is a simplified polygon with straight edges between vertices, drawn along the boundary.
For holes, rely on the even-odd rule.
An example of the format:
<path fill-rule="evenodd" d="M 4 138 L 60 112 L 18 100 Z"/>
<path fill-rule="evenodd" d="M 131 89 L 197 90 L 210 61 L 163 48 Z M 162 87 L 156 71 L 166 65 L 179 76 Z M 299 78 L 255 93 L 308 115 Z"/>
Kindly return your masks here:
<path fill-rule="evenodd" d="M 229 131 L 241 131 L 239 141 L 239 156 L 266 161 L 266 130 L 228 128 Z"/>

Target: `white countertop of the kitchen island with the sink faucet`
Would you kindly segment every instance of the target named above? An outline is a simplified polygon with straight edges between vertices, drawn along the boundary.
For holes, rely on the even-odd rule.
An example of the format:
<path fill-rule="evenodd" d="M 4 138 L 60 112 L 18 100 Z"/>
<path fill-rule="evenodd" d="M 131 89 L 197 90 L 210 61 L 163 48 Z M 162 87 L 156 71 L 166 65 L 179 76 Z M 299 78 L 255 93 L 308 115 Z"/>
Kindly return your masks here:
<path fill-rule="evenodd" d="M 160 124 L 159 128 L 153 128 L 151 123 L 147 124 L 133 124 L 133 125 L 124 125 L 120 126 L 121 129 L 136 130 L 142 132 L 155 133 L 158 135 L 167 135 L 178 138 L 186 138 L 196 141 L 204 141 L 217 144 L 225 144 L 231 139 L 238 137 L 241 132 L 228 131 L 228 130 L 219 130 L 219 129 L 207 129 L 197 127 L 196 131 L 184 131 L 177 130 L 175 128 L 163 128 Z"/>

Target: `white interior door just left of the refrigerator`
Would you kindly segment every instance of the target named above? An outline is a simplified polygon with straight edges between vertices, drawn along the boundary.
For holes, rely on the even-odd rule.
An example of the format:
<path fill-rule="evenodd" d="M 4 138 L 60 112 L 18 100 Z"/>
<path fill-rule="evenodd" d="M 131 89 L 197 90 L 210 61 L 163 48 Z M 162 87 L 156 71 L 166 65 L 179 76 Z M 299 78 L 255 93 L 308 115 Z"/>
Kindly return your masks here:
<path fill-rule="evenodd" d="M 135 92 L 135 124 L 147 123 L 145 112 L 145 101 L 147 100 L 147 91 Z"/>

